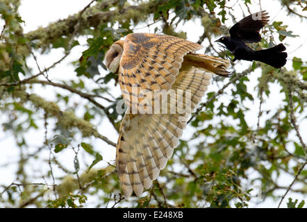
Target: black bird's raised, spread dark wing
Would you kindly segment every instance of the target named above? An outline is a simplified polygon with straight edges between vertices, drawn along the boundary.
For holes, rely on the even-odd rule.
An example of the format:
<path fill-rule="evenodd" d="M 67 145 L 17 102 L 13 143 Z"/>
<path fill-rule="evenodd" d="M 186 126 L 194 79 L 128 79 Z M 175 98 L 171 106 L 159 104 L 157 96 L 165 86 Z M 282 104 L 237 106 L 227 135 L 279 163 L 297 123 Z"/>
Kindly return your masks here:
<path fill-rule="evenodd" d="M 268 13 L 265 10 L 244 17 L 229 30 L 231 38 L 242 42 L 260 42 L 259 31 L 269 22 L 268 18 Z"/>

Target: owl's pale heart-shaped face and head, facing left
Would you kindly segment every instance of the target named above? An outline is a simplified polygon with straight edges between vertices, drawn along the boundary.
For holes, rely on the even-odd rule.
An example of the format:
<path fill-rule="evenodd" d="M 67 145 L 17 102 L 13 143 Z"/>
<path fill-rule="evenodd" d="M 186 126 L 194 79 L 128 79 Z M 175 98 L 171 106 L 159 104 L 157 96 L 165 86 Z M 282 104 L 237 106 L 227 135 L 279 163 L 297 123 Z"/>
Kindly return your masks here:
<path fill-rule="evenodd" d="M 114 42 L 110 49 L 106 52 L 106 56 L 104 58 L 104 64 L 108 68 L 109 71 L 112 71 L 113 73 L 117 73 L 119 68 L 119 62 L 122 58 L 123 53 L 123 45 L 124 41 L 119 40 L 117 42 Z"/>

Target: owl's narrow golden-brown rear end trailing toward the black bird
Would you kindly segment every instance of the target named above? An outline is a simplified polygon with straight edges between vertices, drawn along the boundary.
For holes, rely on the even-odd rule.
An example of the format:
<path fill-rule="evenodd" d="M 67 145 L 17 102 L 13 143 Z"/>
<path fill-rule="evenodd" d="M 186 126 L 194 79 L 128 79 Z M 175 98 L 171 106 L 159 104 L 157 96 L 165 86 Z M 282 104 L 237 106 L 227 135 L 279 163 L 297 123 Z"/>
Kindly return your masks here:
<path fill-rule="evenodd" d="M 230 65 L 229 60 L 197 53 L 188 53 L 183 59 L 190 65 L 208 69 L 218 76 L 231 77 L 231 73 L 226 70 Z"/>

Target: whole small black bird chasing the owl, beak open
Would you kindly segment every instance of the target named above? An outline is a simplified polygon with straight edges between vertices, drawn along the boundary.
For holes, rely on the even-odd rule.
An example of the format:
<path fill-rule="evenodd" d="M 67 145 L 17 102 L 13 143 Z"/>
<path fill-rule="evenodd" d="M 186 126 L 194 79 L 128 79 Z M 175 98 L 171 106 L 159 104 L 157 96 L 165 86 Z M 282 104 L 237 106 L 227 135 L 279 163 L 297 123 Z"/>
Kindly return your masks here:
<path fill-rule="evenodd" d="M 269 16 L 265 10 L 244 17 L 229 29 L 230 36 L 224 36 L 215 42 L 221 42 L 226 46 L 235 60 L 260 61 L 275 68 L 280 68 L 287 62 L 285 46 L 281 43 L 269 49 L 254 51 L 245 43 L 260 42 L 259 31 L 269 22 Z"/>

